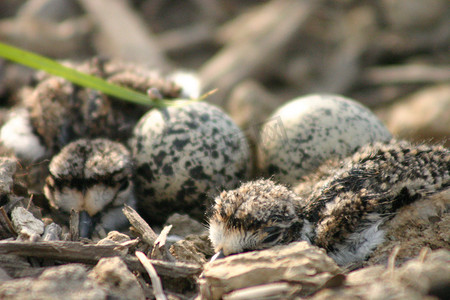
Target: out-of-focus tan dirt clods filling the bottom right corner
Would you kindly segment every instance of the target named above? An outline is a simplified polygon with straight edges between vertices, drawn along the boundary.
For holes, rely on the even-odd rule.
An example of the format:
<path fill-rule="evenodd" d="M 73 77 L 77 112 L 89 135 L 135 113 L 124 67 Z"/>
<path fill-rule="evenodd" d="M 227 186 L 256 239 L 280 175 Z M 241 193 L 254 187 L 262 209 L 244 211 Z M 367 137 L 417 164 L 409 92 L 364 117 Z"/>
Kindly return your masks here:
<path fill-rule="evenodd" d="M 345 284 L 324 289 L 312 299 L 444 299 L 450 286 L 450 251 L 424 252 L 396 269 L 381 265 L 347 275 Z"/>

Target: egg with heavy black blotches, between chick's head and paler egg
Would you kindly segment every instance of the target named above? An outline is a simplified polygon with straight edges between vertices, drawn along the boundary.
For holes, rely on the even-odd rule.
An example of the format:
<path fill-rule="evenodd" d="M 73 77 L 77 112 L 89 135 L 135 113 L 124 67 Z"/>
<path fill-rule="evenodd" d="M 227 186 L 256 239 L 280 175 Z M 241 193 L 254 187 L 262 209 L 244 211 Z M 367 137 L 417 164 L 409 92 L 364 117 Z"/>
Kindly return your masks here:
<path fill-rule="evenodd" d="M 130 147 L 138 207 L 150 223 L 162 223 L 173 212 L 202 219 L 207 199 L 249 173 L 244 134 L 205 102 L 150 110 L 136 125 Z"/>

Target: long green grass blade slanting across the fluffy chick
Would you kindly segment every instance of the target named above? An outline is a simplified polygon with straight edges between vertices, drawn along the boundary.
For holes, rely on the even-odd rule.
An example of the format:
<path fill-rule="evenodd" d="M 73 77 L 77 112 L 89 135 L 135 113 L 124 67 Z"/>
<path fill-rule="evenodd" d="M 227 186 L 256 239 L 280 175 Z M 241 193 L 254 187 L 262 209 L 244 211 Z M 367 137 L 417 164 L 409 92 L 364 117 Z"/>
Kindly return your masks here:
<path fill-rule="evenodd" d="M 134 91 L 129 88 L 121 87 L 107 82 L 99 77 L 88 75 L 72 68 L 46 58 L 44 56 L 25 51 L 0 42 L 0 57 L 22 64 L 24 66 L 43 70 L 49 74 L 60 76 L 72 83 L 86 88 L 92 88 L 105 93 L 106 95 L 117 97 L 129 102 L 151 105 L 156 107 L 171 106 L 170 100 L 153 100 L 146 94 Z"/>

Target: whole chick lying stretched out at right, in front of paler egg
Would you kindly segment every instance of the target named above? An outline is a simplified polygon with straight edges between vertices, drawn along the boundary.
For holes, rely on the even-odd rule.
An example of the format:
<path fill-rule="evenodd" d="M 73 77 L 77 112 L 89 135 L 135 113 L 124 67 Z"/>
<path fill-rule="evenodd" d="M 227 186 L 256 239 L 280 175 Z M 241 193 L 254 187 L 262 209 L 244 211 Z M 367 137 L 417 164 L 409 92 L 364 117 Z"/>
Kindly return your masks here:
<path fill-rule="evenodd" d="M 375 143 L 321 172 L 310 190 L 300 185 L 302 196 L 270 180 L 223 192 L 209 218 L 215 250 L 229 255 L 306 240 L 340 265 L 361 262 L 383 243 L 400 208 L 450 187 L 450 151 Z"/>

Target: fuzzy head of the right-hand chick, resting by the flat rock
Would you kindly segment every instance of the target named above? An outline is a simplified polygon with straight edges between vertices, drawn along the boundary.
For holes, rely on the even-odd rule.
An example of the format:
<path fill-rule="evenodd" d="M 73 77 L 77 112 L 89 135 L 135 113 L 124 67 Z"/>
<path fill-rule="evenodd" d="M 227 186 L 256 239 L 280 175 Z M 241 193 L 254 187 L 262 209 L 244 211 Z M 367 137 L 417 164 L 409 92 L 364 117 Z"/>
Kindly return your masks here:
<path fill-rule="evenodd" d="M 304 220 L 296 207 L 300 201 L 294 192 L 271 180 L 223 191 L 209 212 L 214 250 L 226 256 L 306 239 L 302 237 Z"/>

